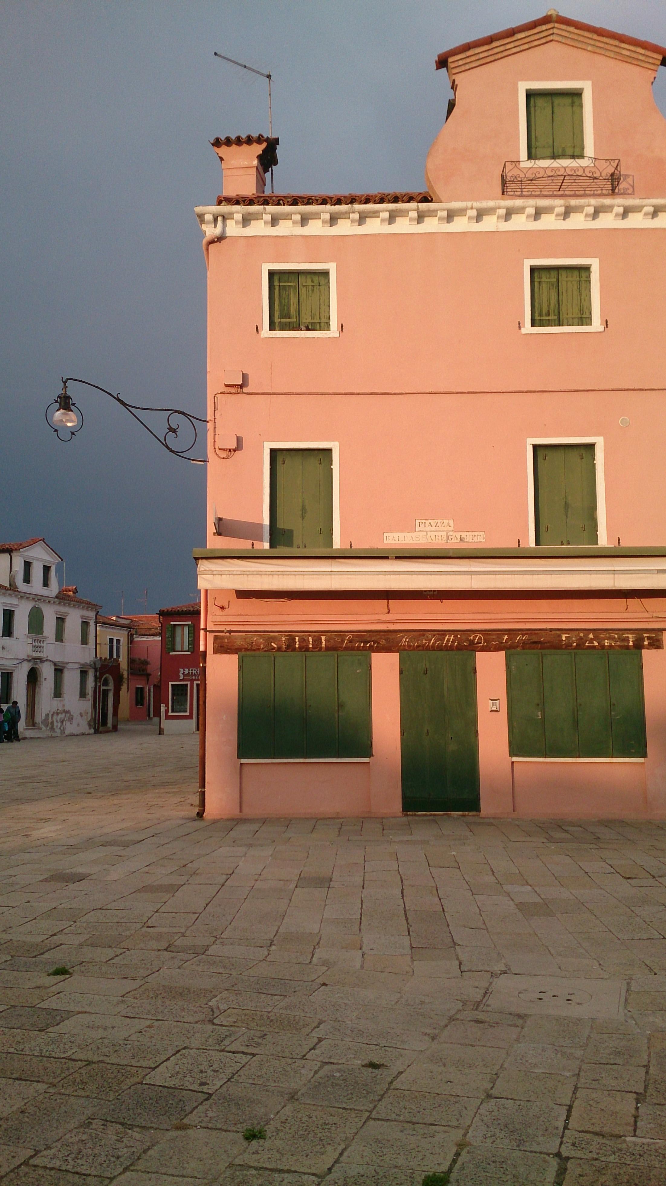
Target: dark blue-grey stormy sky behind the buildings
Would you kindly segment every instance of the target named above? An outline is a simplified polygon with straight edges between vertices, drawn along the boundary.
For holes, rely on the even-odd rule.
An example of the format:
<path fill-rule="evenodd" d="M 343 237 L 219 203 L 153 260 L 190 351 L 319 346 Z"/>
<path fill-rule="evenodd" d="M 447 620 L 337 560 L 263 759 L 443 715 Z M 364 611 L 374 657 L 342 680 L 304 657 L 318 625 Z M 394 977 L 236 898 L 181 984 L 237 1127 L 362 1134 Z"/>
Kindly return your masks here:
<path fill-rule="evenodd" d="M 0 538 L 45 536 L 108 613 L 192 599 L 205 467 L 79 388 L 82 433 L 44 421 L 60 375 L 205 412 L 205 267 L 194 205 L 209 140 L 267 130 L 283 191 L 421 189 L 448 82 L 435 55 L 543 14 L 523 0 L 4 0 L 0 7 Z M 566 15 L 655 42 L 664 0 Z M 661 71 L 666 75 L 666 70 Z M 666 81 L 655 84 L 666 110 Z M 73 389 L 72 389 L 73 394 Z"/>

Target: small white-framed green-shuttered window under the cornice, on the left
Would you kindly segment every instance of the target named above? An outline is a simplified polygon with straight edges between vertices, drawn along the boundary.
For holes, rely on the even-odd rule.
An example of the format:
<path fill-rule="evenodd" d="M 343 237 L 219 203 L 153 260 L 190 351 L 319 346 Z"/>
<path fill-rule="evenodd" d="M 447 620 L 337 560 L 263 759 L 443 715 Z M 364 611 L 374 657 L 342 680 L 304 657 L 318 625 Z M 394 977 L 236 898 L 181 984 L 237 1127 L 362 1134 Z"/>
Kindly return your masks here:
<path fill-rule="evenodd" d="M 335 264 L 264 263 L 263 333 L 337 337 Z"/>

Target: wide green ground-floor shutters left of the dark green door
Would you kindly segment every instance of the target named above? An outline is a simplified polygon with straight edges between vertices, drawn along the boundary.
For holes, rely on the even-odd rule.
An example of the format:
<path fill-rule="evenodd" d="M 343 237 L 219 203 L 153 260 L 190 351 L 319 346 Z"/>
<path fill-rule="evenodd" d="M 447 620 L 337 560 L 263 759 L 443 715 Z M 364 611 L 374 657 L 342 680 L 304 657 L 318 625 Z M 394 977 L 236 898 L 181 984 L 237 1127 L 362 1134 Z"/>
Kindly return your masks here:
<path fill-rule="evenodd" d="M 370 655 L 238 656 L 239 758 L 369 758 Z"/>

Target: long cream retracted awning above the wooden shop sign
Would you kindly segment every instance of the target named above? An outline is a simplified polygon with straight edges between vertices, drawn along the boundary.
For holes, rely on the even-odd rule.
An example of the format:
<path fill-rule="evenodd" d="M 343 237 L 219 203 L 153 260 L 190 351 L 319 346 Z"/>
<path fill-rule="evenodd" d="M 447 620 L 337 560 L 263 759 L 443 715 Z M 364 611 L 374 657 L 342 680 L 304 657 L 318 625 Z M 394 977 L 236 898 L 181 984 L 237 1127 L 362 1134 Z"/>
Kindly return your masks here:
<path fill-rule="evenodd" d="M 441 589 L 547 592 L 550 589 L 665 589 L 666 556 L 507 557 L 288 556 L 197 560 L 200 589 L 353 592 Z"/>

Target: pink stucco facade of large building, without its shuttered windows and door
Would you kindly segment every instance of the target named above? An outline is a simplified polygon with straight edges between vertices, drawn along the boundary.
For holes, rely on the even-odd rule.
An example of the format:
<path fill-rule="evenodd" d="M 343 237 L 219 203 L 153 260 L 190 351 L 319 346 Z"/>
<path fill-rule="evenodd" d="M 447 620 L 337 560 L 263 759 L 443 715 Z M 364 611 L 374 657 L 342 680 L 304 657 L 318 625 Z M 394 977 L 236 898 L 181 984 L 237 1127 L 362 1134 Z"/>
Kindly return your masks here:
<path fill-rule="evenodd" d="M 198 208 L 207 817 L 399 815 L 401 653 L 420 635 L 447 649 L 466 632 L 481 639 L 461 644 L 475 651 L 481 815 L 666 816 L 666 121 L 652 97 L 662 55 L 557 20 L 462 46 L 447 59 L 456 102 L 421 200 L 262 205 L 225 185 Z M 549 87 L 583 96 L 587 190 L 529 192 L 527 180 L 507 197 L 504 165 L 525 158 L 525 94 Z M 613 192 L 595 181 L 602 158 L 621 162 Z M 557 167 L 570 178 L 574 162 Z M 532 324 L 533 267 L 589 269 L 589 324 Z M 301 268 L 328 272 L 329 329 L 275 332 L 269 273 Z M 594 451 L 597 540 L 543 547 L 534 448 L 571 444 Z M 270 547 L 278 449 L 331 452 L 332 547 Z M 488 632 L 520 646 L 521 631 L 563 650 L 576 631 L 590 648 L 645 645 L 640 757 L 512 753 L 505 651 L 486 648 Z M 408 642 L 380 649 L 385 632 Z M 222 653 L 230 636 L 237 652 Z M 241 754 L 238 655 L 257 639 L 326 649 L 328 636 L 371 652 L 370 757 Z"/>

